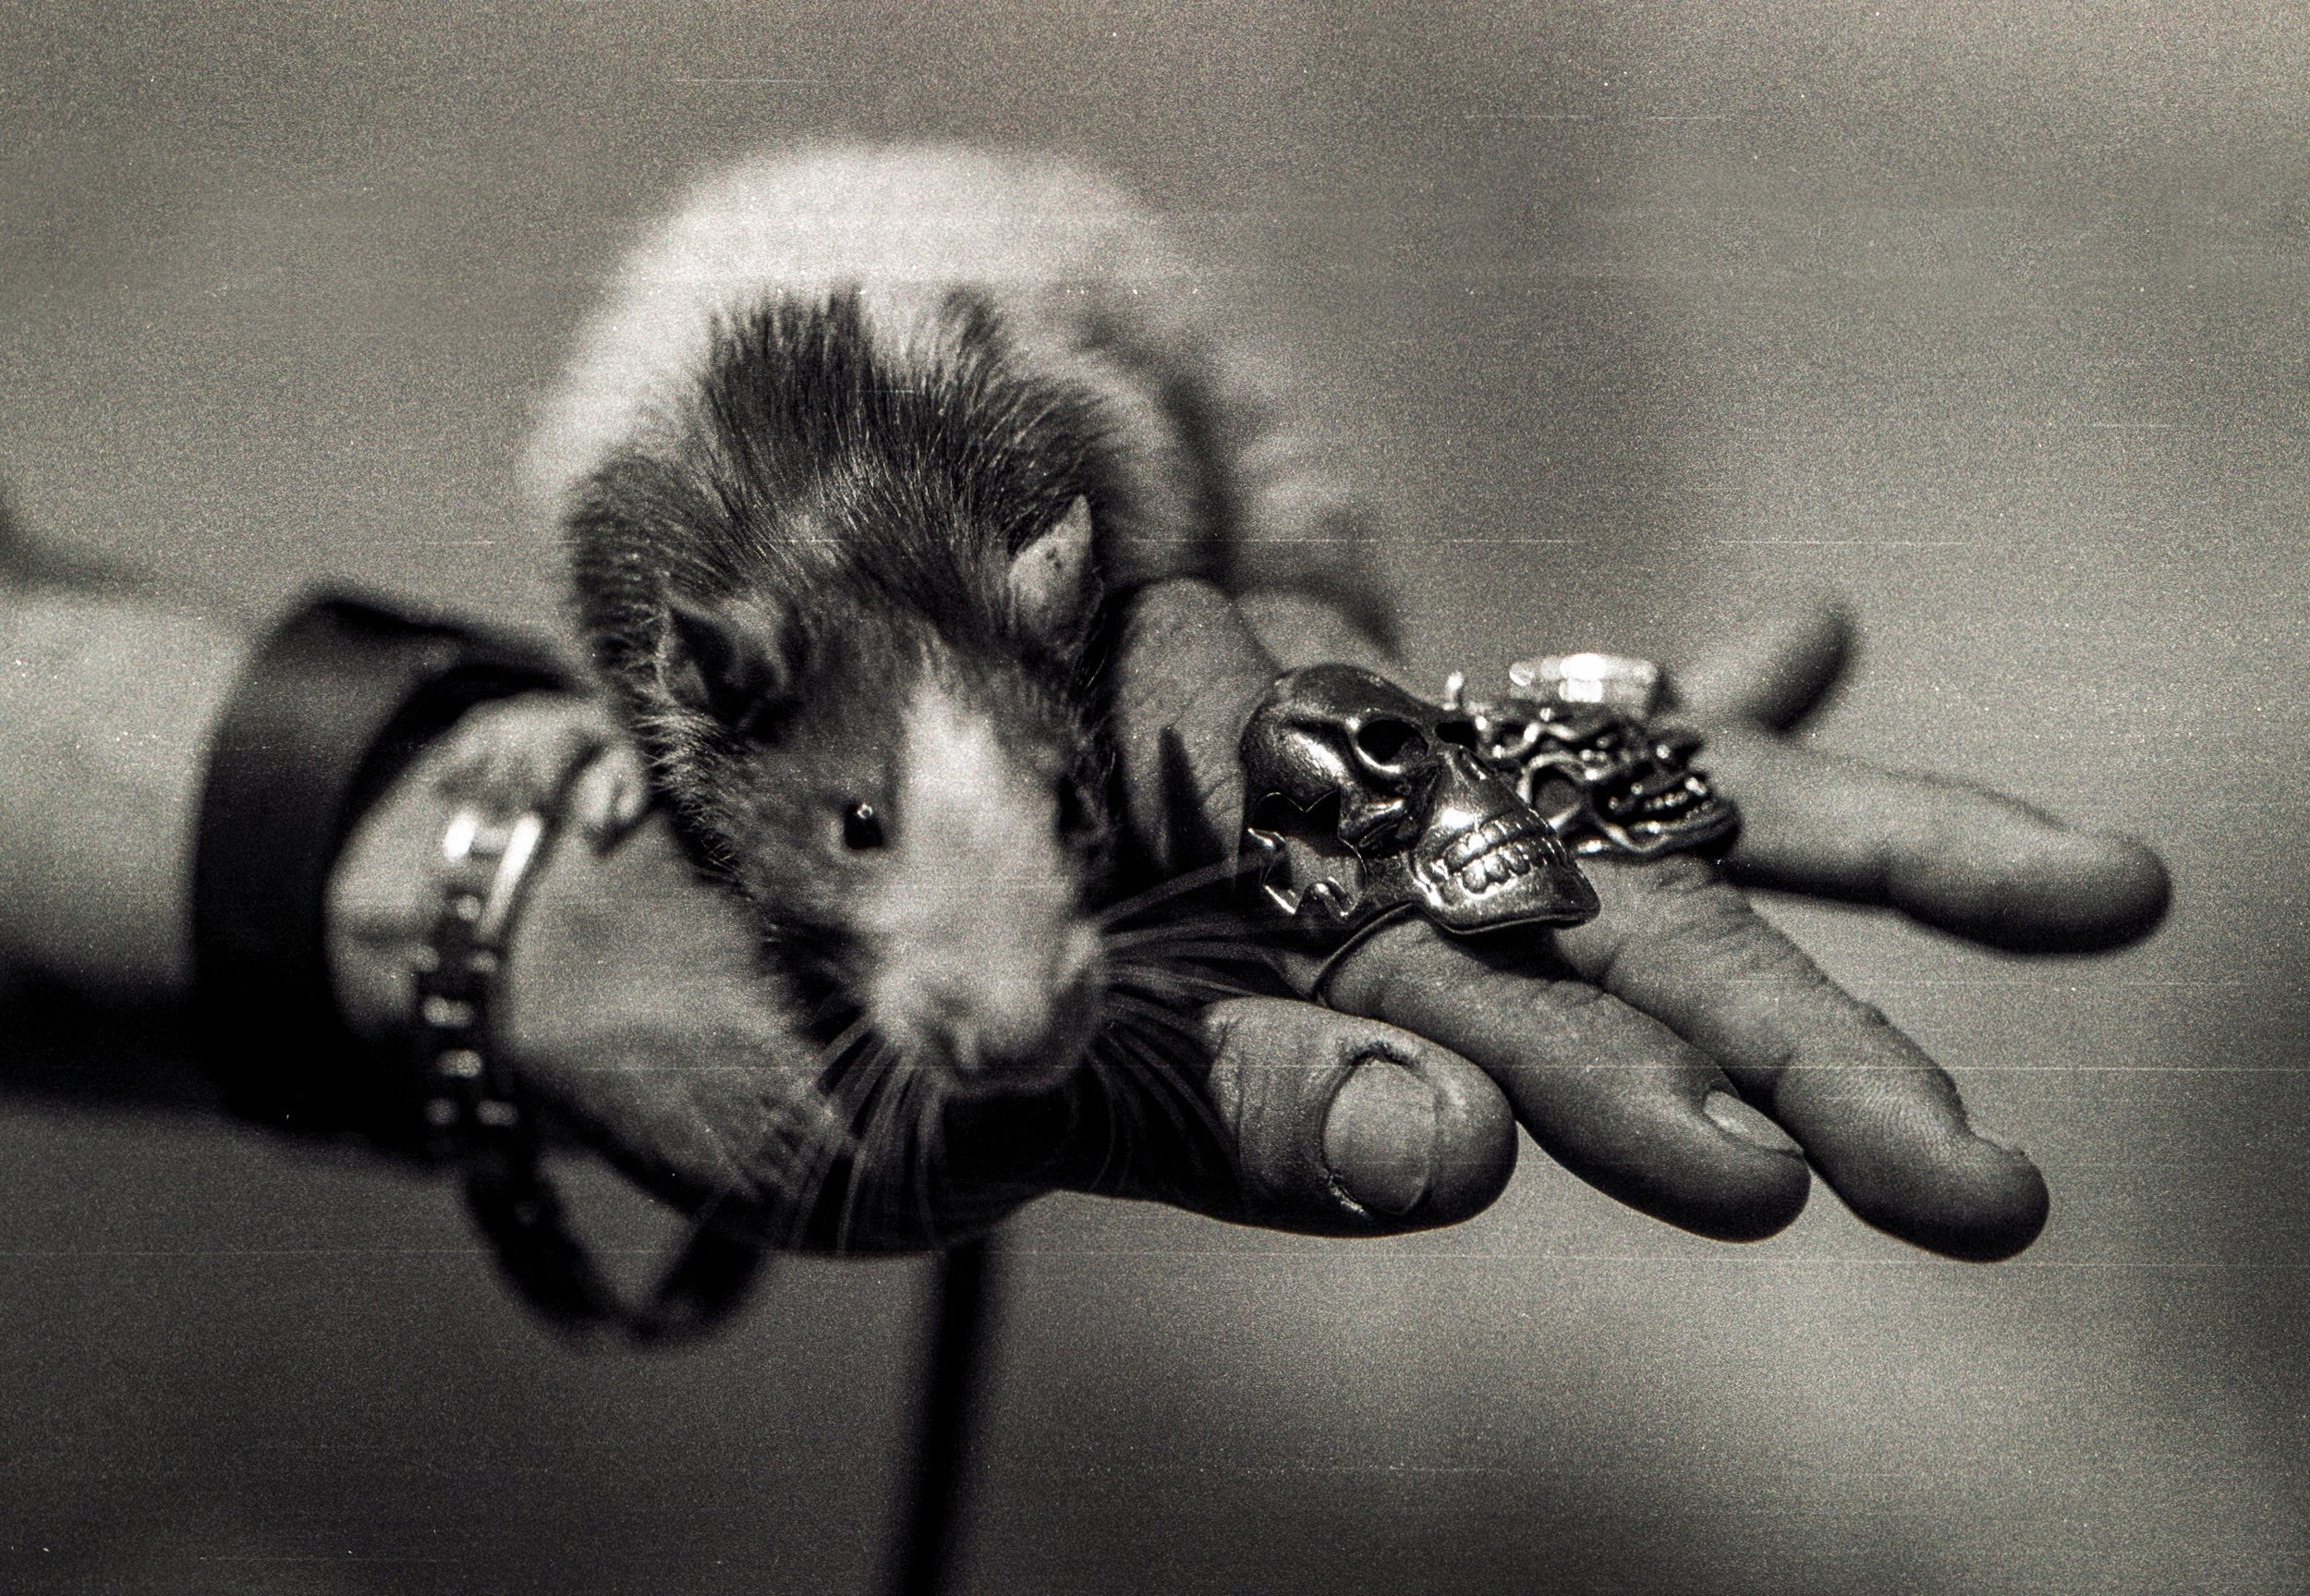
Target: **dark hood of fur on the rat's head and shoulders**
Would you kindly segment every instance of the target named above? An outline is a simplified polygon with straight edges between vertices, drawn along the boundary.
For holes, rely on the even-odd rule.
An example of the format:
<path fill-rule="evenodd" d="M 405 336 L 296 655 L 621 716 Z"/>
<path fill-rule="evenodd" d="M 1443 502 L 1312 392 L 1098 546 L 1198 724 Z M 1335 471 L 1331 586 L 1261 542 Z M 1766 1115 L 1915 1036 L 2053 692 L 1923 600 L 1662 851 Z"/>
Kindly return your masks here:
<path fill-rule="evenodd" d="M 1113 494 L 1102 420 L 1019 370 L 984 300 L 956 293 L 947 326 L 945 358 L 899 367 L 855 293 L 765 305 L 718 333 L 672 441 L 614 457 L 568 515 L 580 624 L 661 790 L 781 952 L 836 986 L 866 949 L 857 862 L 825 829 L 848 801 L 892 813 L 889 728 L 924 672 L 1058 753 L 1086 871 L 1104 841 L 1088 637 L 1021 624 L 1005 587 L 1076 497 L 1097 517 Z M 684 612 L 760 656 L 684 691 Z"/>

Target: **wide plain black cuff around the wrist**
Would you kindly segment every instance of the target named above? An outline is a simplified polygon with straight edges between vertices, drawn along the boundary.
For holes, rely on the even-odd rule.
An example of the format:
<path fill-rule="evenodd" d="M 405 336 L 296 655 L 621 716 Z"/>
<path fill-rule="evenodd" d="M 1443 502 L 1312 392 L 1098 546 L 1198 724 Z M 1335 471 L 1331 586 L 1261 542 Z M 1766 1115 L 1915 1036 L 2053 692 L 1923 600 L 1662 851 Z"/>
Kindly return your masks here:
<path fill-rule="evenodd" d="M 208 755 L 192 873 L 194 1035 L 233 1113 L 420 1153 L 413 1072 L 337 1014 L 330 868 L 457 716 L 561 686 L 545 649 L 344 596 L 305 603 L 256 649 Z"/>

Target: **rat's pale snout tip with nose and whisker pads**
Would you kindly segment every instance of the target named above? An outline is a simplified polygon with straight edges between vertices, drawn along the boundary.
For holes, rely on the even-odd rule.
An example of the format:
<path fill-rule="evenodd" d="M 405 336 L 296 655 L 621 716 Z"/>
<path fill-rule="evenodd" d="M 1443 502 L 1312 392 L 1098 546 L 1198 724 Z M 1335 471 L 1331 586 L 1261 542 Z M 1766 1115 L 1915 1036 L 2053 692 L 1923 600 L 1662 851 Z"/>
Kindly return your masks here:
<path fill-rule="evenodd" d="M 1097 1030 L 1100 935 L 986 924 L 892 961 L 873 991 L 875 1030 L 973 1090 L 1033 1090 L 1067 1076 Z"/>

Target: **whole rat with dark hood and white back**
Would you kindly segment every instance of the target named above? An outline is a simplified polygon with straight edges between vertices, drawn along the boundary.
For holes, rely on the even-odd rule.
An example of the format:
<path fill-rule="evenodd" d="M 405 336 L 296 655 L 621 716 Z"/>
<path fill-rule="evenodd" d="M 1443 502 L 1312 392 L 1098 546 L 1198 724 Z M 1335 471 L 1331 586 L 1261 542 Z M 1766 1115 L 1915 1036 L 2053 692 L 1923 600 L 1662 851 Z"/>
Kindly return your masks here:
<path fill-rule="evenodd" d="M 547 413 L 654 785 L 901 1060 L 1046 1079 L 1104 1016 L 1102 598 L 1351 536 L 1204 286 L 1063 166 L 769 157 L 628 259 Z"/>

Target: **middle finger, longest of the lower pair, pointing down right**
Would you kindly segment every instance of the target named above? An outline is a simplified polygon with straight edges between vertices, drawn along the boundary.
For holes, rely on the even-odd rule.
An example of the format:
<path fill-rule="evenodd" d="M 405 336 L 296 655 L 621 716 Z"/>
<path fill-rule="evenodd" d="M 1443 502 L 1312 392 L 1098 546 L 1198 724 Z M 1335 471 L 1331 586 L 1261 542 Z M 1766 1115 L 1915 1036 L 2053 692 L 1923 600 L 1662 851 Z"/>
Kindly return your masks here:
<path fill-rule="evenodd" d="M 1869 1224 L 1961 1259 L 2044 1226 L 2037 1169 L 1966 1120 L 1947 1074 L 1689 855 L 1592 859 L 1603 912 L 1557 933 L 1571 968 L 1707 1051 Z"/>

